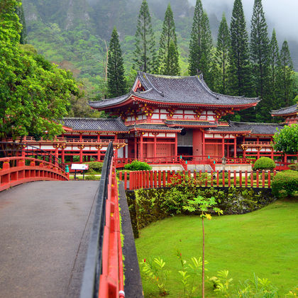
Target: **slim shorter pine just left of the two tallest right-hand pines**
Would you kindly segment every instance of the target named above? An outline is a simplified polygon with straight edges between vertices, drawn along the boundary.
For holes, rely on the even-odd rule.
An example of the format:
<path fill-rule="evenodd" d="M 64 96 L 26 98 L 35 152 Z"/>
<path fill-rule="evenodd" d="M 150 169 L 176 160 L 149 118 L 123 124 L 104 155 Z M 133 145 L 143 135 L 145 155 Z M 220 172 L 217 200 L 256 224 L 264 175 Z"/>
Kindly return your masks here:
<path fill-rule="evenodd" d="M 219 34 L 217 35 L 216 45 L 216 62 L 220 72 L 219 92 L 226 94 L 227 89 L 227 70 L 228 70 L 228 53 L 231 48 L 231 36 L 228 31 L 228 23 L 223 13 L 221 24 L 219 25 Z"/>

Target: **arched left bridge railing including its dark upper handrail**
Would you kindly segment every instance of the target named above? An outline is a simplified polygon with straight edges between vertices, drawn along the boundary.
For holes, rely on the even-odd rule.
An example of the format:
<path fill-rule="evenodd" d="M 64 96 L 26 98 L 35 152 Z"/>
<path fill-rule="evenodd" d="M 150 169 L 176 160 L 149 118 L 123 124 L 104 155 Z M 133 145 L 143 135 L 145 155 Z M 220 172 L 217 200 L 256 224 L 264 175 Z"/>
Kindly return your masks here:
<path fill-rule="evenodd" d="M 65 166 L 50 153 L 19 143 L 0 145 L 0 191 L 25 182 L 69 179 Z"/>

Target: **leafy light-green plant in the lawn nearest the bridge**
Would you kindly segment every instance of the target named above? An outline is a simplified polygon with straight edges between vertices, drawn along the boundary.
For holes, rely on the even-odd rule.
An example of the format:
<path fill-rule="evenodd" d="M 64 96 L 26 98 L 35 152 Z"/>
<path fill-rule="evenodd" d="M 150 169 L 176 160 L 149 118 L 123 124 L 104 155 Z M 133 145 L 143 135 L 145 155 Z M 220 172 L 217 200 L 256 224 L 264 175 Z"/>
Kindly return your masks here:
<path fill-rule="evenodd" d="M 165 269 L 165 261 L 162 258 L 154 258 L 153 261 L 146 261 L 144 259 L 140 265 L 145 277 L 152 280 L 158 286 L 160 295 L 167 295 L 168 290 L 165 283 L 167 282 L 167 276 L 170 274 L 170 271 Z"/>

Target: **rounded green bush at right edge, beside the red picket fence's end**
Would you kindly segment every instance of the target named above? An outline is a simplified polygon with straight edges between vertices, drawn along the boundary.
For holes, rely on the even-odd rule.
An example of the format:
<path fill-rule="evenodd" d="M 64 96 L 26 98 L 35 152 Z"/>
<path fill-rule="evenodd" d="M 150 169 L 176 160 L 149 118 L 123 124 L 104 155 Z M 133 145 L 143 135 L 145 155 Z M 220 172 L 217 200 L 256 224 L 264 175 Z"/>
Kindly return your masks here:
<path fill-rule="evenodd" d="M 287 170 L 277 173 L 271 186 L 276 197 L 291 197 L 298 189 L 298 172 Z"/>

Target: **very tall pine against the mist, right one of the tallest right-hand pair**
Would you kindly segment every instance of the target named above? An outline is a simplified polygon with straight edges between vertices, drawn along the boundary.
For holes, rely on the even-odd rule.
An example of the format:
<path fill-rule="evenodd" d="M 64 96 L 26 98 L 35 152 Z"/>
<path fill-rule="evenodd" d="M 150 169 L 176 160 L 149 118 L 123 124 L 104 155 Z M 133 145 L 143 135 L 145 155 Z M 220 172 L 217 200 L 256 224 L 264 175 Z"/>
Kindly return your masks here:
<path fill-rule="evenodd" d="M 255 0 L 251 18 L 250 57 L 253 63 L 253 82 L 255 96 L 263 100 L 258 106 L 270 106 L 265 96 L 267 89 L 269 38 L 262 0 Z"/>

